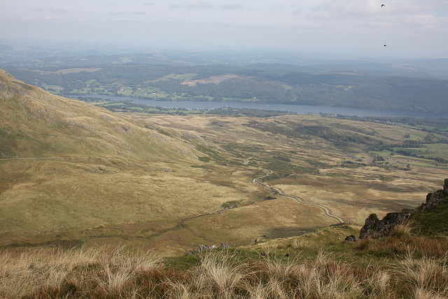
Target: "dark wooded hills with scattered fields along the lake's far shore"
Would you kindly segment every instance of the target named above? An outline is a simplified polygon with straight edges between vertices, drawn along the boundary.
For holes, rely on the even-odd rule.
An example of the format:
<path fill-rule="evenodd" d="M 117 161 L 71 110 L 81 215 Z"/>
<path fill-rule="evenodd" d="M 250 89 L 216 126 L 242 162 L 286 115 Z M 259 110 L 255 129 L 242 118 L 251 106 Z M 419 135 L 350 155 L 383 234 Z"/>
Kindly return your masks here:
<path fill-rule="evenodd" d="M 431 71 L 411 64 L 48 65 L 4 69 L 55 95 L 448 111 L 448 81 L 430 78 Z"/>

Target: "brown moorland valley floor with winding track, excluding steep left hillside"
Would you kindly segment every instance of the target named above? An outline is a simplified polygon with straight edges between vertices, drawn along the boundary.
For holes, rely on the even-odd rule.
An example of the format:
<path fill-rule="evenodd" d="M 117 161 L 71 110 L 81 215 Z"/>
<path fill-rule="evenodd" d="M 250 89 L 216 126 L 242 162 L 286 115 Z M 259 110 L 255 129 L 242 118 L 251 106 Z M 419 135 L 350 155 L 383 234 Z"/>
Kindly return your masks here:
<path fill-rule="evenodd" d="M 194 145 L 200 160 L 107 158 L 90 154 L 85 139 L 68 158 L 5 158 L 3 246 L 120 243 L 176 256 L 200 244 L 247 245 L 416 207 L 448 170 L 380 148 L 430 134 L 419 127 L 309 115 L 130 116 L 170 138 L 207 142 Z M 427 147 L 435 145 L 434 153 L 448 150 Z"/>

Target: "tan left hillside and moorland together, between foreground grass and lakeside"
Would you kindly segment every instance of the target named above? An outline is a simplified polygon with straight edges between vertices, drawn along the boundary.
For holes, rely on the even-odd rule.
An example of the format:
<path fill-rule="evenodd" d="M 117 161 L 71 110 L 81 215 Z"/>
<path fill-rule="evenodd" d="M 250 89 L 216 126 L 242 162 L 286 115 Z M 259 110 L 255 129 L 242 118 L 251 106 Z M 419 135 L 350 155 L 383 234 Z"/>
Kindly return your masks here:
<path fill-rule="evenodd" d="M 84 239 L 164 254 L 199 244 L 238 246 L 335 223 L 291 198 L 262 201 L 270 193 L 252 180 L 264 169 L 274 171 L 270 185 L 351 223 L 416 206 L 446 172 L 426 160 L 375 161 L 365 152 L 416 129 L 319 116 L 129 118 L 5 82 L 3 244 Z M 16 158 L 33 160 L 10 160 Z M 237 209 L 216 212 L 235 202 Z"/>

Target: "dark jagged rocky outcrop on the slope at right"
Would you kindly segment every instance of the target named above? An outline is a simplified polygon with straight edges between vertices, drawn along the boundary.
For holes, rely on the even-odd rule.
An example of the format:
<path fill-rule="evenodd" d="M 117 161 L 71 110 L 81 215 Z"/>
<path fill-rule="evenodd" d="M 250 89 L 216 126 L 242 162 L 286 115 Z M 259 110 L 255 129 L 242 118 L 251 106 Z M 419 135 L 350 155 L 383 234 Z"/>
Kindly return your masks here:
<path fill-rule="evenodd" d="M 390 235 L 395 225 L 405 223 L 413 214 L 432 211 L 440 204 L 448 204 L 448 179 L 444 180 L 442 190 L 437 190 L 426 195 L 426 202 L 421 204 L 419 209 L 403 209 L 400 212 L 388 213 L 381 220 L 379 220 L 376 214 L 370 214 L 370 216 L 365 219 L 365 224 L 360 230 L 359 238 L 377 239 L 386 237 Z M 353 241 L 353 239 L 351 238 L 347 241 Z"/>

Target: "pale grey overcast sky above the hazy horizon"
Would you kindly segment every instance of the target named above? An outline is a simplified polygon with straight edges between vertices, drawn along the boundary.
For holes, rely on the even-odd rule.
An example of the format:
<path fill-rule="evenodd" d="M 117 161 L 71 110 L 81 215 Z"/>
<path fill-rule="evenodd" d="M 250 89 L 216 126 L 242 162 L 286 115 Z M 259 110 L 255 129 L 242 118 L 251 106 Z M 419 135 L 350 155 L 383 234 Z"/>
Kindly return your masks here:
<path fill-rule="evenodd" d="M 448 58 L 448 0 L 0 0 L 0 4 L 0 38 L 7 39 Z"/>

